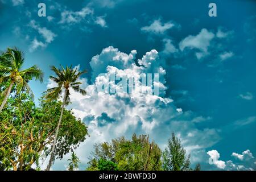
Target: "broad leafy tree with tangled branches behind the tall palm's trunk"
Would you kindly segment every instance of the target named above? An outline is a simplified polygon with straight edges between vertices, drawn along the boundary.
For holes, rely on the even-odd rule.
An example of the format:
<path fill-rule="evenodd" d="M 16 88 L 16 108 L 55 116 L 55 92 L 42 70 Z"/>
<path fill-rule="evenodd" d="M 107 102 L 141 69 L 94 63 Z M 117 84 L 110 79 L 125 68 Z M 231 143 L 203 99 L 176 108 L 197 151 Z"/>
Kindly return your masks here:
<path fill-rule="evenodd" d="M 48 146 L 55 137 L 62 103 L 45 102 L 42 97 L 36 107 L 26 93 L 11 96 L 7 103 L 0 114 L 0 166 L 6 170 L 28 170 L 49 154 Z M 72 111 L 63 110 L 61 125 L 54 153 L 59 159 L 78 147 L 88 134 L 84 123 Z"/>

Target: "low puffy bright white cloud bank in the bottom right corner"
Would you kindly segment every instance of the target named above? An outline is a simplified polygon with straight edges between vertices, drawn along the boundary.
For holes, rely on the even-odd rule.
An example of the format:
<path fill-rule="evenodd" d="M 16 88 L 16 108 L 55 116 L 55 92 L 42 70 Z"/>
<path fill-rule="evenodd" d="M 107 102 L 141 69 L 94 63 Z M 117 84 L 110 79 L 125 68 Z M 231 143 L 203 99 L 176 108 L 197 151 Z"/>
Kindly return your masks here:
<path fill-rule="evenodd" d="M 216 165 L 219 169 L 225 169 L 228 171 L 254 171 L 256 169 L 255 159 L 250 150 L 243 151 L 242 154 L 233 152 L 231 156 L 238 160 L 235 162 L 232 160 L 228 160 L 226 162 L 218 160 L 220 158 L 220 154 L 216 150 L 208 151 L 207 154 L 210 156 L 209 163 Z"/>

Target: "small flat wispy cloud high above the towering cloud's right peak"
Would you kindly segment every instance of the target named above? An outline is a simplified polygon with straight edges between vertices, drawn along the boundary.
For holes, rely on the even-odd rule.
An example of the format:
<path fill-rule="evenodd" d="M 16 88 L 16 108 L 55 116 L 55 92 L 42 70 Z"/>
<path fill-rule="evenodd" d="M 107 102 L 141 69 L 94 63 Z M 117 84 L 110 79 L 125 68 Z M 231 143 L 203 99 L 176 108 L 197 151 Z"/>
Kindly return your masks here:
<path fill-rule="evenodd" d="M 164 34 L 167 30 L 174 27 L 172 22 L 162 23 L 161 19 L 156 19 L 150 24 L 150 26 L 142 27 L 143 32 L 150 32 L 152 34 Z"/>

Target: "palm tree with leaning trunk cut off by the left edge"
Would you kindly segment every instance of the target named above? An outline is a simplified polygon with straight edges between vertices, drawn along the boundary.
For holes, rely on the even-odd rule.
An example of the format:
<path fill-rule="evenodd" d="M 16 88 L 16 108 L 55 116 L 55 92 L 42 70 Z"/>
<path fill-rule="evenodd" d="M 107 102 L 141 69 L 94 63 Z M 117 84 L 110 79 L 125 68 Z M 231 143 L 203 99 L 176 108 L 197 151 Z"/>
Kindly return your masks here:
<path fill-rule="evenodd" d="M 36 65 L 22 70 L 24 64 L 24 52 L 17 48 L 7 48 L 5 52 L 1 52 L 0 56 L 0 83 L 10 82 L 4 92 L 4 98 L 0 106 L 0 113 L 5 106 L 7 99 L 11 93 L 11 89 L 16 85 L 17 93 L 22 89 L 31 92 L 28 81 L 35 78 L 43 82 L 43 72 Z"/>

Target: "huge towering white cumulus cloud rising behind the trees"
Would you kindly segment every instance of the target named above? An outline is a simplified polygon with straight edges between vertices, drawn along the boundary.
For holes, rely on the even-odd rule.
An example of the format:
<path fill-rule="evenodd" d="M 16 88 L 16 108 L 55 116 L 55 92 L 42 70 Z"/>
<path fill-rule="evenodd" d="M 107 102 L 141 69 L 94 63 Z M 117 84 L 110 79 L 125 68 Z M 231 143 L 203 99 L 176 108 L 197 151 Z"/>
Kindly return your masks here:
<path fill-rule="evenodd" d="M 86 86 L 87 95 L 81 96 L 71 91 L 72 104 L 69 109 L 86 123 L 91 136 L 76 151 L 84 164 L 88 162 L 94 143 L 122 135 L 130 137 L 133 133 L 149 134 L 151 139 L 164 148 L 171 132 L 175 131 L 192 156 L 220 139 L 214 129 L 197 129 L 192 122 L 196 118 L 195 114 L 176 107 L 172 98 L 165 96 L 166 71 L 161 65 L 158 51 L 153 49 L 146 52 L 142 59 L 137 60 L 139 65 L 135 63 L 136 54 L 135 50 L 127 54 L 111 46 L 102 49 L 90 61 L 92 84 Z M 159 81 L 154 82 L 159 85 L 159 96 L 154 94 L 152 86 L 141 84 L 135 86 L 131 93 L 123 92 L 125 85 L 109 80 L 113 73 L 117 77 L 134 78 L 137 82 L 141 82 L 141 75 L 159 73 Z M 54 86 L 50 84 L 49 87 Z M 104 89 L 99 90 L 102 85 Z M 109 94 L 109 86 L 117 92 Z M 192 160 L 199 162 L 200 159 L 192 157 Z"/>

